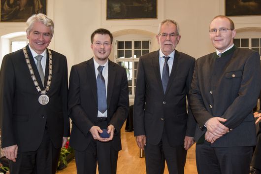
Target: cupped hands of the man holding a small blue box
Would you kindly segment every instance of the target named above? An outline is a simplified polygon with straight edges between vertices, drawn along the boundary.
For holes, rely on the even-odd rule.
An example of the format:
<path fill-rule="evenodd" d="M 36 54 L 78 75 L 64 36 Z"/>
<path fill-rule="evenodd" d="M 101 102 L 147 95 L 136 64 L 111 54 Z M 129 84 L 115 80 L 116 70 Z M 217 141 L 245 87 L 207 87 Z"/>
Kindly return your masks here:
<path fill-rule="evenodd" d="M 110 137 L 109 137 L 109 138 L 106 138 L 106 139 L 105 139 L 105 138 L 101 138 L 101 137 L 99 136 L 99 134 L 102 133 L 102 130 L 101 130 L 100 127 L 98 127 L 98 126 L 93 126 L 93 127 L 91 127 L 90 133 L 92 134 L 92 136 L 93 136 L 94 139 L 97 139 L 97 140 L 102 141 L 102 142 L 106 142 L 106 141 L 110 141 L 110 140 L 113 139 L 114 126 L 111 124 L 111 125 L 109 125 L 109 126 L 107 127 L 107 129 L 108 129 L 107 133 L 110 134 Z"/>

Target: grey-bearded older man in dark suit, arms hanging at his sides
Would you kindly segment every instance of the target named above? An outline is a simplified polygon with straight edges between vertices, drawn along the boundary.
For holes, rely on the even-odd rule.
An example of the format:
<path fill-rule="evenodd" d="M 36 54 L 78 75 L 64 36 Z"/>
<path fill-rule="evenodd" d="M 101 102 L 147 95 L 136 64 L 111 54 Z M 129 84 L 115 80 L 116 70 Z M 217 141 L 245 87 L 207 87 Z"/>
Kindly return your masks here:
<path fill-rule="evenodd" d="M 180 40 L 178 24 L 161 22 L 160 50 L 139 59 L 134 99 L 134 136 L 145 149 L 147 174 L 184 174 L 187 150 L 193 145 L 196 122 L 186 97 L 195 59 L 175 50 Z"/>

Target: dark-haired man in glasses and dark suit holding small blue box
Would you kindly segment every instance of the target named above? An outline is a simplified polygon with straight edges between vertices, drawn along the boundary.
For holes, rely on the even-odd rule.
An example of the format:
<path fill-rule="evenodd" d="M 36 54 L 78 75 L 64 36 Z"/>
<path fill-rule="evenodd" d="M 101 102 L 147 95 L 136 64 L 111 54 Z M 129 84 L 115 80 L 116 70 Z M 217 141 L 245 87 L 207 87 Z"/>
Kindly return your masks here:
<path fill-rule="evenodd" d="M 116 174 L 129 94 L 126 70 L 108 59 L 112 39 L 108 30 L 96 30 L 91 35 L 94 57 L 71 68 L 70 145 L 75 149 L 77 174 L 96 174 L 97 162 L 99 174 Z M 109 137 L 100 135 L 104 133 Z"/>

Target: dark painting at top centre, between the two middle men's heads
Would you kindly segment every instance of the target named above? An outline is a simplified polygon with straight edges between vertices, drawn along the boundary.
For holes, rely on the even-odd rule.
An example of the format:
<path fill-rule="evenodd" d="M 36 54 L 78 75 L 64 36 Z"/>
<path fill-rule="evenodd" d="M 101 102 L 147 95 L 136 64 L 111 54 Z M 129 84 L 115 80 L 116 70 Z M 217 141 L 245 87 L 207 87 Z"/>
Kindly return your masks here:
<path fill-rule="evenodd" d="M 107 0 L 106 19 L 157 19 L 157 0 Z"/>

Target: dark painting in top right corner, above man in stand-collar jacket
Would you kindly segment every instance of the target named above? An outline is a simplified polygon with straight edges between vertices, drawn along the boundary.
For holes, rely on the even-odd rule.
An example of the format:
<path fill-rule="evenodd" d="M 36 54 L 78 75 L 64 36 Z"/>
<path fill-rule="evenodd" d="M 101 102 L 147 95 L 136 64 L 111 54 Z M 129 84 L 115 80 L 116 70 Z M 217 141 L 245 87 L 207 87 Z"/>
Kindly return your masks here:
<path fill-rule="evenodd" d="M 261 15 L 261 0 L 226 0 L 226 15 Z"/>

